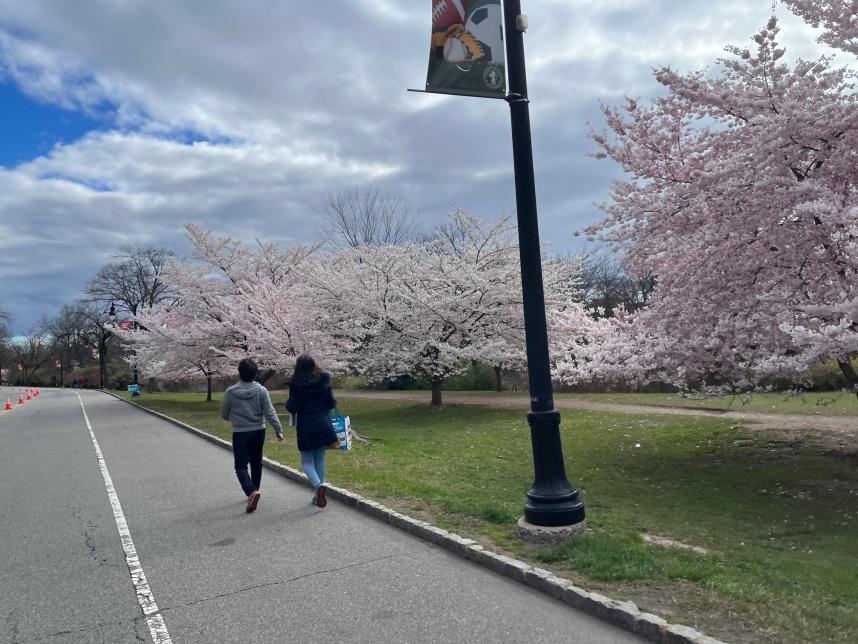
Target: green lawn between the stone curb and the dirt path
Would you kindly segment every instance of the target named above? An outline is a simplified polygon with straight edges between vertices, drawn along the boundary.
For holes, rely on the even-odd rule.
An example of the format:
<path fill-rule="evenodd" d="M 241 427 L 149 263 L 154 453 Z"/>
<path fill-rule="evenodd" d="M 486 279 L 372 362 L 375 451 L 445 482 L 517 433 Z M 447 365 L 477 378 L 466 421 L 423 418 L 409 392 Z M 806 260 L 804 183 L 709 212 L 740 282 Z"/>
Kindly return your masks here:
<path fill-rule="evenodd" d="M 229 438 L 219 401 L 203 398 L 137 400 Z M 335 485 L 727 641 L 858 640 L 854 455 L 717 418 L 567 410 L 567 472 L 592 530 L 537 547 L 514 537 L 533 476 L 524 414 L 345 395 L 340 407 L 373 440 L 330 454 Z M 266 454 L 297 467 L 286 430 Z M 707 554 L 651 545 L 642 533 Z"/>

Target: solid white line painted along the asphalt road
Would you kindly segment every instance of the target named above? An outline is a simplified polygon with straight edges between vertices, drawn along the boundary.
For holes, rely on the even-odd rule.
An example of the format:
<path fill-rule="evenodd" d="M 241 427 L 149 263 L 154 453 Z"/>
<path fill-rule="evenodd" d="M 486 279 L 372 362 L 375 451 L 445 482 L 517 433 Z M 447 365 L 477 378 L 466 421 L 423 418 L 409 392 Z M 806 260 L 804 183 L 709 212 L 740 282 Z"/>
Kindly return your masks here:
<path fill-rule="evenodd" d="M 125 521 L 125 515 L 122 513 L 122 506 L 119 504 L 119 497 L 116 494 L 116 489 L 113 487 L 113 479 L 110 478 L 110 472 L 107 471 L 107 463 L 104 462 L 101 447 L 98 446 L 98 441 L 95 439 L 95 434 L 92 431 L 92 425 L 89 423 L 89 416 L 86 415 L 86 407 L 83 406 L 83 399 L 78 392 L 74 393 L 80 402 L 83 419 L 86 421 L 86 428 L 89 430 L 89 437 L 92 439 L 92 446 L 95 448 L 95 456 L 98 458 L 98 466 L 101 468 L 101 476 L 104 478 L 104 487 L 107 488 L 110 507 L 113 508 L 116 528 L 119 530 L 119 538 L 122 541 L 122 549 L 125 551 L 125 563 L 128 564 L 128 572 L 131 573 L 131 583 L 134 584 L 137 601 L 140 603 L 140 608 L 143 609 L 143 615 L 146 617 L 146 624 L 149 626 L 152 641 L 154 644 L 172 644 L 173 640 L 170 639 L 170 633 L 167 632 L 164 617 L 158 611 L 155 596 L 149 588 L 149 582 L 146 581 L 146 574 L 143 572 L 143 566 L 140 564 L 140 558 L 137 556 L 137 549 L 131 540 L 131 531 L 128 529 L 128 523 Z"/>

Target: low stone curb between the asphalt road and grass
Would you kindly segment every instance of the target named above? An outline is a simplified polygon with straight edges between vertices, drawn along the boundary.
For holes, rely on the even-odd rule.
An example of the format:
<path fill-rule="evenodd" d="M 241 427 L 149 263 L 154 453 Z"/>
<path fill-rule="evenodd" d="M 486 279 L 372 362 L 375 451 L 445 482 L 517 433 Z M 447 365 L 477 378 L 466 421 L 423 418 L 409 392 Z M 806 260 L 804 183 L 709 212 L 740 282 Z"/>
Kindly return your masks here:
<path fill-rule="evenodd" d="M 138 409 L 142 409 L 153 416 L 157 416 L 168 423 L 181 427 L 192 434 L 196 434 L 215 445 L 232 451 L 232 445 L 222 438 L 212 436 L 201 429 L 197 429 L 192 425 L 183 423 L 160 412 L 147 409 L 134 401 L 117 396 L 112 392 L 105 391 L 104 393 L 129 403 Z M 307 477 L 288 465 L 283 465 L 267 457 L 262 459 L 262 465 L 288 479 L 310 487 Z M 531 566 L 513 557 L 491 552 L 473 539 L 466 539 L 453 532 L 433 526 L 426 521 L 413 519 L 381 503 L 362 497 L 344 488 L 333 485 L 327 485 L 326 487 L 328 489 L 328 498 L 336 499 L 344 505 L 381 519 L 385 523 L 389 523 L 416 537 L 434 543 L 460 557 L 464 557 L 505 577 L 526 584 L 588 615 L 640 635 L 657 644 L 725 644 L 721 640 L 704 635 L 689 626 L 669 624 L 658 615 L 641 612 L 633 602 L 617 601 L 599 593 L 591 593 L 583 588 L 579 588 L 568 579 L 558 577 L 549 570 Z"/>

